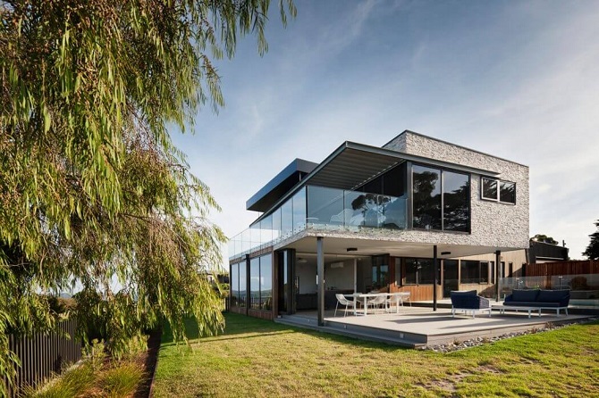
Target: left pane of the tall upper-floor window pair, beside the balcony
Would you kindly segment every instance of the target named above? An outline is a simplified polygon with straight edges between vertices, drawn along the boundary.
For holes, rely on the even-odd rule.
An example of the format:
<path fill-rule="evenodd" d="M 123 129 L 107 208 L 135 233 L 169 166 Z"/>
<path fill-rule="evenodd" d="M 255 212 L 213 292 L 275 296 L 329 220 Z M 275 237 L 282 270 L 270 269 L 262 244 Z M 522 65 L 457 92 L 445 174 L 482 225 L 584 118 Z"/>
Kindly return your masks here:
<path fill-rule="evenodd" d="M 413 226 L 441 229 L 441 170 L 412 167 Z"/>

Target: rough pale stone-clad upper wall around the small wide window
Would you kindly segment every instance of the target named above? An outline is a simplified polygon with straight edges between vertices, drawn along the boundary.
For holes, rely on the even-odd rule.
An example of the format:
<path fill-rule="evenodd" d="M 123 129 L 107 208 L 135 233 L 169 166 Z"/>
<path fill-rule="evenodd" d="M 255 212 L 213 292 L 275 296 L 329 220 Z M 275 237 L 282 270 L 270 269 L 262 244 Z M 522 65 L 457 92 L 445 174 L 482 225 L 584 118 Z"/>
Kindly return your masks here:
<path fill-rule="evenodd" d="M 416 154 L 431 159 L 457 163 L 483 170 L 500 172 L 497 178 L 516 183 L 516 204 L 485 201 L 480 198 L 480 175 L 472 175 L 471 222 L 469 236 L 450 235 L 440 239 L 438 232 L 410 231 L 416 242 L 452 241 L 465 245 L 492 245 L 513 248 L 528 247 L 529 191 L 528 167 L 480 153 L 459 145 L 451 145 L 431 137 L 405 131 L 384 145 L 385 149 Z M 408 231 L 406 231 L 408 232 Z M 408 236 L 404 236 L 406 238 Z"/>

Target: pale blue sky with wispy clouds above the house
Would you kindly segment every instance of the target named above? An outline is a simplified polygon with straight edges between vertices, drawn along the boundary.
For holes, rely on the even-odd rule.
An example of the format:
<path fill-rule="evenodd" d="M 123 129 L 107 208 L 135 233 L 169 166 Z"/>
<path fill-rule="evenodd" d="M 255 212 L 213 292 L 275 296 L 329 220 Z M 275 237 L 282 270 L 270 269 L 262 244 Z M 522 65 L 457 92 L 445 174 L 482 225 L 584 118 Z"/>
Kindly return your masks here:
<path fill-rule="evenodd" d="M 295 158 L 409 129 L 530 168 L 530 236 L 582 252 L 599 219 L 599 2 L 273 2 L 255 37 L 216 62 L 224 108 L 173 131 L 232 237 L 246 201 Z M 227 253 L 224 251 L 224 263 Z"/>

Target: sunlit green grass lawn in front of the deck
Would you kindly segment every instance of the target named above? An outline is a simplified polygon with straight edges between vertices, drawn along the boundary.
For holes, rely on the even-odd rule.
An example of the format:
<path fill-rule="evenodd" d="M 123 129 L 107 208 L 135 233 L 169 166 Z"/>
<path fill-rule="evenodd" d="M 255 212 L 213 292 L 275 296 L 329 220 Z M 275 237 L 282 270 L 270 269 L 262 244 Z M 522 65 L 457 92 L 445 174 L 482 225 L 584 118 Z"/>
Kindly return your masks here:
<path fill-rule="evenodd" d="M 166 328 L 156 397 L 599 396 L 599 322 L 444 354 L 232 313 L 226 325 L 192 349 Z"/>

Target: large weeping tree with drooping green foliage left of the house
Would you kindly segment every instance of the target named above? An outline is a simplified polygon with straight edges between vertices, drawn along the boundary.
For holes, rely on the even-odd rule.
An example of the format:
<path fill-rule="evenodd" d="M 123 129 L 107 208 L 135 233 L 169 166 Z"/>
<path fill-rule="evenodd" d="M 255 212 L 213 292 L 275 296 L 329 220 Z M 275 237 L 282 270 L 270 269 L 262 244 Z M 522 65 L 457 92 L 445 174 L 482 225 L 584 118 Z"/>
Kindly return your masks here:
<path fill-rule="evenodd" d="M 284 25 L 295 7 L 278 5 Z M 167 126 L 184 131 L 199 107 L 223 105 L 213 62 L 248 34 L 264 54 L 269 7 L 0 2 L 1 372 L 6 335 L 53 328 L 44 293 L 75 281 L 77 313 L 105 320 L 116 353 L 163 318 L 178 339 L 188 314 L 203 333 L 222 327 L 198 272 L 219 261 L 224 235 L 207 219 L 218 205 Z"/>

